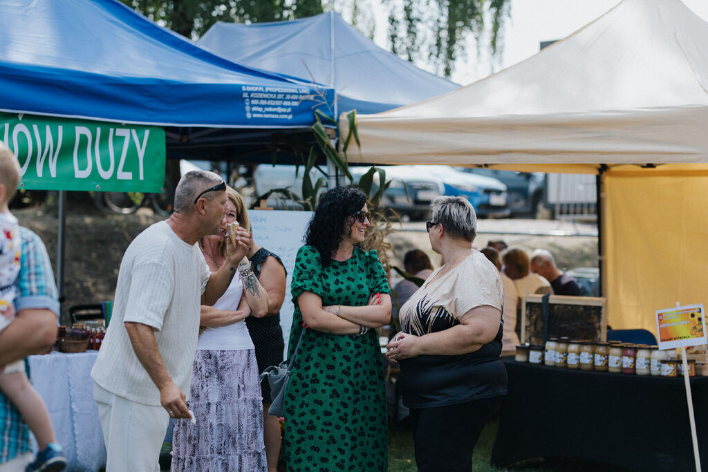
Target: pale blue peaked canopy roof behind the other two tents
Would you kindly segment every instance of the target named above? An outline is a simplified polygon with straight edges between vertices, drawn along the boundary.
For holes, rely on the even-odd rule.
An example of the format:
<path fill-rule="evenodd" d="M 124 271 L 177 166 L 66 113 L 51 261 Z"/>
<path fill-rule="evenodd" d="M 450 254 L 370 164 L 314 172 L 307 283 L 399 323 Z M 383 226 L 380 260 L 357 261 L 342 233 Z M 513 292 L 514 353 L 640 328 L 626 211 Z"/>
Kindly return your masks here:
<path fill-rule="evenodd" d="M 275 23 L 216 23 L 199 40 L 234 62 L 334 88 L 336 113 L 379 113 L 457 84 L 382 50 L 334 12 Z"/>

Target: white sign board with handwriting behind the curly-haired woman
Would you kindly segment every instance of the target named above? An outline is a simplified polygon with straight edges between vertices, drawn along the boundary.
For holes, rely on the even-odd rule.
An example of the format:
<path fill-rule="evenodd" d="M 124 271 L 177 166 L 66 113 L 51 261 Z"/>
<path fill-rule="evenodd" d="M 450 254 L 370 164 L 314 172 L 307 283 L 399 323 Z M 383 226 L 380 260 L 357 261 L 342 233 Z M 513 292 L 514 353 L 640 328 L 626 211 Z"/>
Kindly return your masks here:
<path fill-rule="evenodd" d="M 282 302 L 280 309 L 280 326 L 282 326 L 282 337 L 285 340 L 285 352 L 287 352 L 287 338 L 290 336 L 290 326 L 292 325 L 292 313 L 295 311 L 290 295 L 292 268 L 295 267 L 297 250 L 304 246 L 302 236 L 305 234 L 310 218 L 312 218 L 312 212 L 249 210 L 253 241 L 258 246 L 278 255 L 287 270 L 285 301 Z"/>

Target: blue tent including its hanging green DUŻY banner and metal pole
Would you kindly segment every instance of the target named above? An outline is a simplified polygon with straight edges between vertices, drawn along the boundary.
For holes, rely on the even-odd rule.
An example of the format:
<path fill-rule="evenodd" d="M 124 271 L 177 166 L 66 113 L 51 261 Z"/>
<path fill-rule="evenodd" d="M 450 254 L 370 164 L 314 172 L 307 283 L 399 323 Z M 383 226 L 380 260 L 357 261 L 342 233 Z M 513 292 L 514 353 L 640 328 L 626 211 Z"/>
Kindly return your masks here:
<path fill-rule="evenodd" d="M 34 179 L 25 188 L 62 190 L 60 294 L 63 190 L 108 190 L 110 185 L 122 185 L 122 191 L 159 190 L 165 146 L 168 154 L 173 147 L 174 157 L 181 157 L 188 146 L 225 149 L 229 144 L 233 155 L 239 140 L 256 137 L 270 144 L 273 129 L 307 132 L 314 108 L 331 113 L 333 96 L 331 89 L 217 57 L 117 0 L 0 2 L 0 140 L 18 154 L 23 185 Z M 135 127 L 141 126 L 139 135 Z M 149 131 L 153 138 L 166 137 L 154 153 L 145 151 Z M 114 166 L 118 139 L 109 138 L 109 132 L 138 148 L 139 171 L 121 168 L 127 144 L 122 156 L 118 150 Z M 204 144 L 195 144 L 200 140 Z M 99 141 L 105 149 L 99 150 Z M 109 147 L 110 166 L 105 160 Z M 83 153 L 81 163 L 77 153 Z M 154 178 L 147 184 L 156 173 L 157 188 Z M 126 175 L 132 180 L 121 180 Z"/>

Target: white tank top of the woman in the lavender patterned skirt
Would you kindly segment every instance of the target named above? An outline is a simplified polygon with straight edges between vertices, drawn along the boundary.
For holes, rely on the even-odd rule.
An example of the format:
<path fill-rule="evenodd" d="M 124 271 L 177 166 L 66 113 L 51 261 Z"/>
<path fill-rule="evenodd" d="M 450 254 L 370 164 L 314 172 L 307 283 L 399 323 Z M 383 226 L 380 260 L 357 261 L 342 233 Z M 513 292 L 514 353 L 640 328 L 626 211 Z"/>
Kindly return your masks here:
<path fill-rule="evenodd" d="M 218 310 L 239 309 L 239 302 L 243 294 L 244 284 L 241 282 L 241 274 L 237 273 L 229 284 L 229 288 L 214 304 L 214 308 Z M 241 320 L 227 326 L 205 329 L 199 337 L 197 349 L 211 351 L 253 349 L 253 341 L 249 335 L 249 328 L 246 328 L 246 321 Z"/>

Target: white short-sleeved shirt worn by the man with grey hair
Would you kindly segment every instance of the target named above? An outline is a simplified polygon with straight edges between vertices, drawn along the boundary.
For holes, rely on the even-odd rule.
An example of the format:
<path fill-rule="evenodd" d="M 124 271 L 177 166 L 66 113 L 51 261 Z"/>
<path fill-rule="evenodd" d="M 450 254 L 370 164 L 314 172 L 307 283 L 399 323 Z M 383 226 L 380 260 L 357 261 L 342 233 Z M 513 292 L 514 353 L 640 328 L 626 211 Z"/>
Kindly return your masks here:
<path fill-rule="evenodd" d="M 160 405 L 160 392 L 125 330 L 130 321 L 154 328 L 167 372 L 189 396 L 201 295 L 210 275 L 199 247 L 185 243 L 166 221 L 139 234 L 120 263 L 113 314 L 91 370 L 96 384 L 130 401 Z"/>

